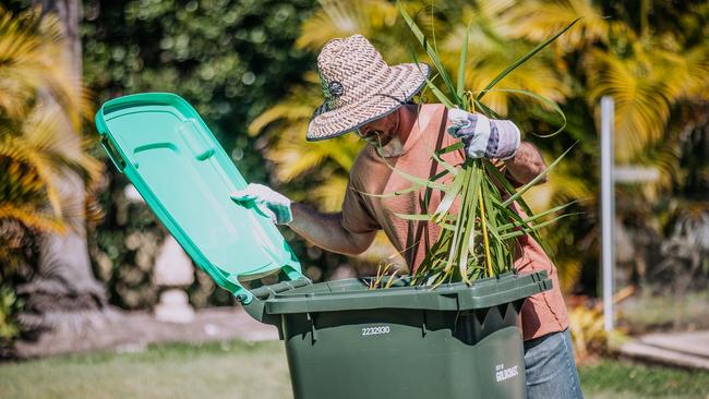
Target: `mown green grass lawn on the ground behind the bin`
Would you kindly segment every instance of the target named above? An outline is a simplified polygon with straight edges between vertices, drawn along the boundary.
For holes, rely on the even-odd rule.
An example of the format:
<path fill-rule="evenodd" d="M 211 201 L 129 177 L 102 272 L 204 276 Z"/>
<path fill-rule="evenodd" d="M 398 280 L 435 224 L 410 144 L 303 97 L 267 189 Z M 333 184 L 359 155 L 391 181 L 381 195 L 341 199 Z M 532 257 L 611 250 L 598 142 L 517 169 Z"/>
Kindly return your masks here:
<path fill-rule="evenodd" d="M 591 399 L 709 398 L 709 373 L 602 360 L 580 374 Z M 0 398 L 285 399 L 291 392 L 281 342 L 231 341 L 0 363 Z"/>

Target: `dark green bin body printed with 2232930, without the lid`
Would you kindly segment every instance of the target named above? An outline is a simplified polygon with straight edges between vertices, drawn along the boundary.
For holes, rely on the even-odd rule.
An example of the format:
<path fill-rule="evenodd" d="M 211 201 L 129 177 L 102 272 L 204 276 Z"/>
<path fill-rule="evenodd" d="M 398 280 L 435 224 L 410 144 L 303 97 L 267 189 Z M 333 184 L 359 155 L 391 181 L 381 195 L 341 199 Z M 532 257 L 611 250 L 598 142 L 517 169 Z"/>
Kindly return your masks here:
<path fill-rule="evenodd" d="M 490 286 L 496 281 L 491 280 L 486 288 L 492 293 Z M 313 285 L 266 300 L 271 313 L 277 306 L 268 306 L 269 302 L 279 298 L 291 299 L 291 305 L 300 299 L 302 310 L 312 310 L 289 309 L 280 315 L 296 399 L 527 397 L 519 317 L 527 297 L 524 289 L 509 292 L 501 287 L 495 300 L 478 301 L 498 302 L 494 305 L 450 310 L 467 307 L 461 306 L 460 295 L 480 299 L 474 286 L 450 285 L 457 291 L 441 292 L 441 301 L 432 304 L 417 297 L 435 299 L 436 290 L 402 290 L 377 302 L 371 300 L 376 291 L 358 290 L 354 280 L 322 285 L 325 290 L 343 291 L 321 292 L 319 298 L 313 292 L 323 288 Z M 536 287 L 543 290 L 539 282 Z M 411 307 L 387 307 L 387 302 L 397 306 L 407 295 Z M 341 309 L 324 311 L 328 297 L 341 302 L 333 307 Z M 417 302 L 422 302 L 421 309 L 416 309 Z M 348 310 L 346 303 L 372 309 Z"/>

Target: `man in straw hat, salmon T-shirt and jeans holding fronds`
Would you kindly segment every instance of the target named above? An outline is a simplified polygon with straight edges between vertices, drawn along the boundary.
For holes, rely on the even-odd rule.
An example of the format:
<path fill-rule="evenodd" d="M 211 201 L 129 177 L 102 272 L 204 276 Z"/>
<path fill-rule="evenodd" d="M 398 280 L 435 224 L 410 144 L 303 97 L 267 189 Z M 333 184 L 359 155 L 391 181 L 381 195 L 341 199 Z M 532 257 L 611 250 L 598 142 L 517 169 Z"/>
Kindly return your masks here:
<path fill-rule="evenodd" d="M 537 148 L 520 142 L 519 130 L 510 121 L 409 102 L 425 84 L 430 68 L 388 66 L 362 36 L 329 41 L 317 58 L 317 68 L 325 102 L 315 110 L 307 138 L 326 140 L 356 131 L 369 144 L 350 171 L 343 210 L 322 214 L 259 184 L 232 197 L 254 201 L 275 222 L 288 225 L 325 250 L 360 254 L 383 229 L 414 270 L 426 251 L 423 243 L 435 242 L 437 226 L 402 220 L 396 214 L 431 213 L 442 194 L 434 192 L 428 208 L 419 192 L 396 197 L 370 194 L 411 185 L 393 168 L 423 179 L 441 172 L 442 166 L 431 154 L 458 140 L 464 141 L 465 150 L 442 156 L 453 165 L 461 165 L 466 157 L 501 160 L 505 174 L 517 184 L 531 181 L 545 168 Z M 546 270 L 554 282 L 552 290 L 531 297 L 521 312 L 529 397 L 581 398 L 556 268 L 530 237 L 518 242 L 515 267 L 522 273 Z"/>

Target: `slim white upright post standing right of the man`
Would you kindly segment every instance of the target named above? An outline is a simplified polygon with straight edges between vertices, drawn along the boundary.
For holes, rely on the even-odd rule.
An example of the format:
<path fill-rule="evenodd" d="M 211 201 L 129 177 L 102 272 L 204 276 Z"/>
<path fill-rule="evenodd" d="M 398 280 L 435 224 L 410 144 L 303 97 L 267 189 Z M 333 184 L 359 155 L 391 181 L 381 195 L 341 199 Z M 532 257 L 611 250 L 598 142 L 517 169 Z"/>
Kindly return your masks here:
<path fill-rule="evenodd" d="M 615 183 L 613 167 L 613 98 L 601 98 L 601 265 L 603 277 L 603 327 L 613 329 L 613 280 L 615 278 Z"/>

